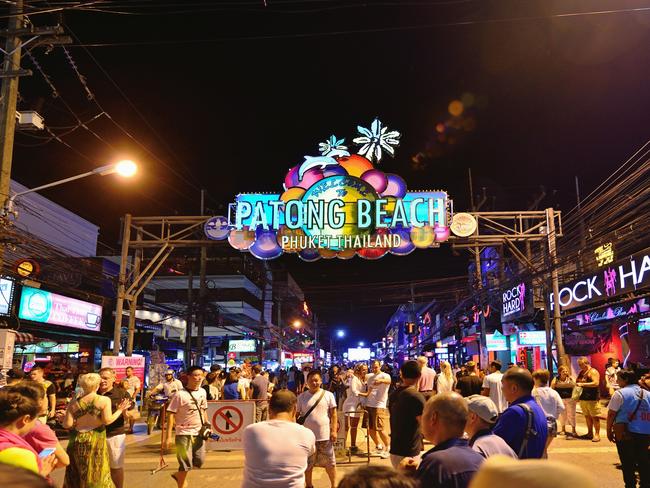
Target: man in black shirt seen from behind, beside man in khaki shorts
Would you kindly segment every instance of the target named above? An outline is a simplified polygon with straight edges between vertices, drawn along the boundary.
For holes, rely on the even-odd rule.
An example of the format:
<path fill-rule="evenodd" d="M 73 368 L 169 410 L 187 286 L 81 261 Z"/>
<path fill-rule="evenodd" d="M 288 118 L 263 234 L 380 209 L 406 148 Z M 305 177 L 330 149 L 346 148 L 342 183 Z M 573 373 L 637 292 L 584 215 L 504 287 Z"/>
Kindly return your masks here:
<path fill-rule="evenodd" d="M 390 395 L 390 462 L 397 468 L 405 457 L 417 459 L 424 448 L 420 418 L 426 400 L 418 391 L 420 361 L 406 361 L 400 368 L 401 385 Z"/>

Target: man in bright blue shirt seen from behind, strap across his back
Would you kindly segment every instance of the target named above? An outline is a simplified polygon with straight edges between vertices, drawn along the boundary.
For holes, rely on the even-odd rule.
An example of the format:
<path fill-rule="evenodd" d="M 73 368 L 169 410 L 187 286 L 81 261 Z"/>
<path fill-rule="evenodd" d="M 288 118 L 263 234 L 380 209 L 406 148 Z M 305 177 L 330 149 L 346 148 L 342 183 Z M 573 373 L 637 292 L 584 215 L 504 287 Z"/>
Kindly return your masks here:
<path fill-rule="evenodd" d="M 499 417 L 493 433 L 506 441 L 520 459 L 542 458 L 548 427 L 544 410 L 531 395 L 533 376 L 527 369 L 510 368 L 501 384 L 510 406 Z"/>

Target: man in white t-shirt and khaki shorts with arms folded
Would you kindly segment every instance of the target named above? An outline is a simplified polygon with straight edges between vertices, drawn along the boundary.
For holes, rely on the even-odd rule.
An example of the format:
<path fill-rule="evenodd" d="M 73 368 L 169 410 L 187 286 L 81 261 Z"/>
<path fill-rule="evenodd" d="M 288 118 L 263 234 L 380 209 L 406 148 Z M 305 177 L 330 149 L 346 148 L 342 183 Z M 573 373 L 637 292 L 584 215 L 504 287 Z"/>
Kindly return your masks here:
<path fill-rule="evenodd" d="M 371 367 L 372 374 L 369 374 L 366 378 L 368 382 L 368 399 L 366 400 L 368 434 L 377 448 L 375 455 L 382 459 L 388 459 L 390 457 L 388 449 L 390 440 L 388 434 L 386 434 L 389 425 L 386 403 L 388 402 L 388 389 L 390 388 L 391 378 L 387 373 L 381 371 L 379 361 L 373 361 Z"/>

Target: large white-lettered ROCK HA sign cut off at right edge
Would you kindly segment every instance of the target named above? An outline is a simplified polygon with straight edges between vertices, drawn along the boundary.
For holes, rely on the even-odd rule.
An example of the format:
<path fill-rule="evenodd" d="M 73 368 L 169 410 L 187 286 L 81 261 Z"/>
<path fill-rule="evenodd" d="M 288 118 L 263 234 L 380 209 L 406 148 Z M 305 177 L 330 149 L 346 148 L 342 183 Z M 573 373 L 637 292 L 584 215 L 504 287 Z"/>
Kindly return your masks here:
<path fill-rule="evenodd" d="M 562 310 L 588 305 L 599 300 L 630 293 L 650 285 L 650 254 L 636 254 L 618 261 L 597 273 L 560 287 L 558 295 Z M 554 308 L 553 293 L 549 297 Z"/>

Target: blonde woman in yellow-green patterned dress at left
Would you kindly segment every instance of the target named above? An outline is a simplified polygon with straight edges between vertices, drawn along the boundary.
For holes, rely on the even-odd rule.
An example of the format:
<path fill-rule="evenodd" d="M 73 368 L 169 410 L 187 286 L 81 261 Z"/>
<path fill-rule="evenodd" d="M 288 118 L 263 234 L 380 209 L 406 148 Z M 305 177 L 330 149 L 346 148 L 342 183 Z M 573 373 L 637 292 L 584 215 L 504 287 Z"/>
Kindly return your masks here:
<path fill-rule="evenodd" d="M 99 395 L 100 376 L 87 373 L 79 376 L 77 387 L 82 392 L 74 398 L 65 411 L 63 427 L 71 430 L 68 441 L 70 465 L 65 470 L 66 488 L 113 488 L 106 426 L 115 422 L 131 404 L 123 400 L 115 413 L 111 400 Z"/>

